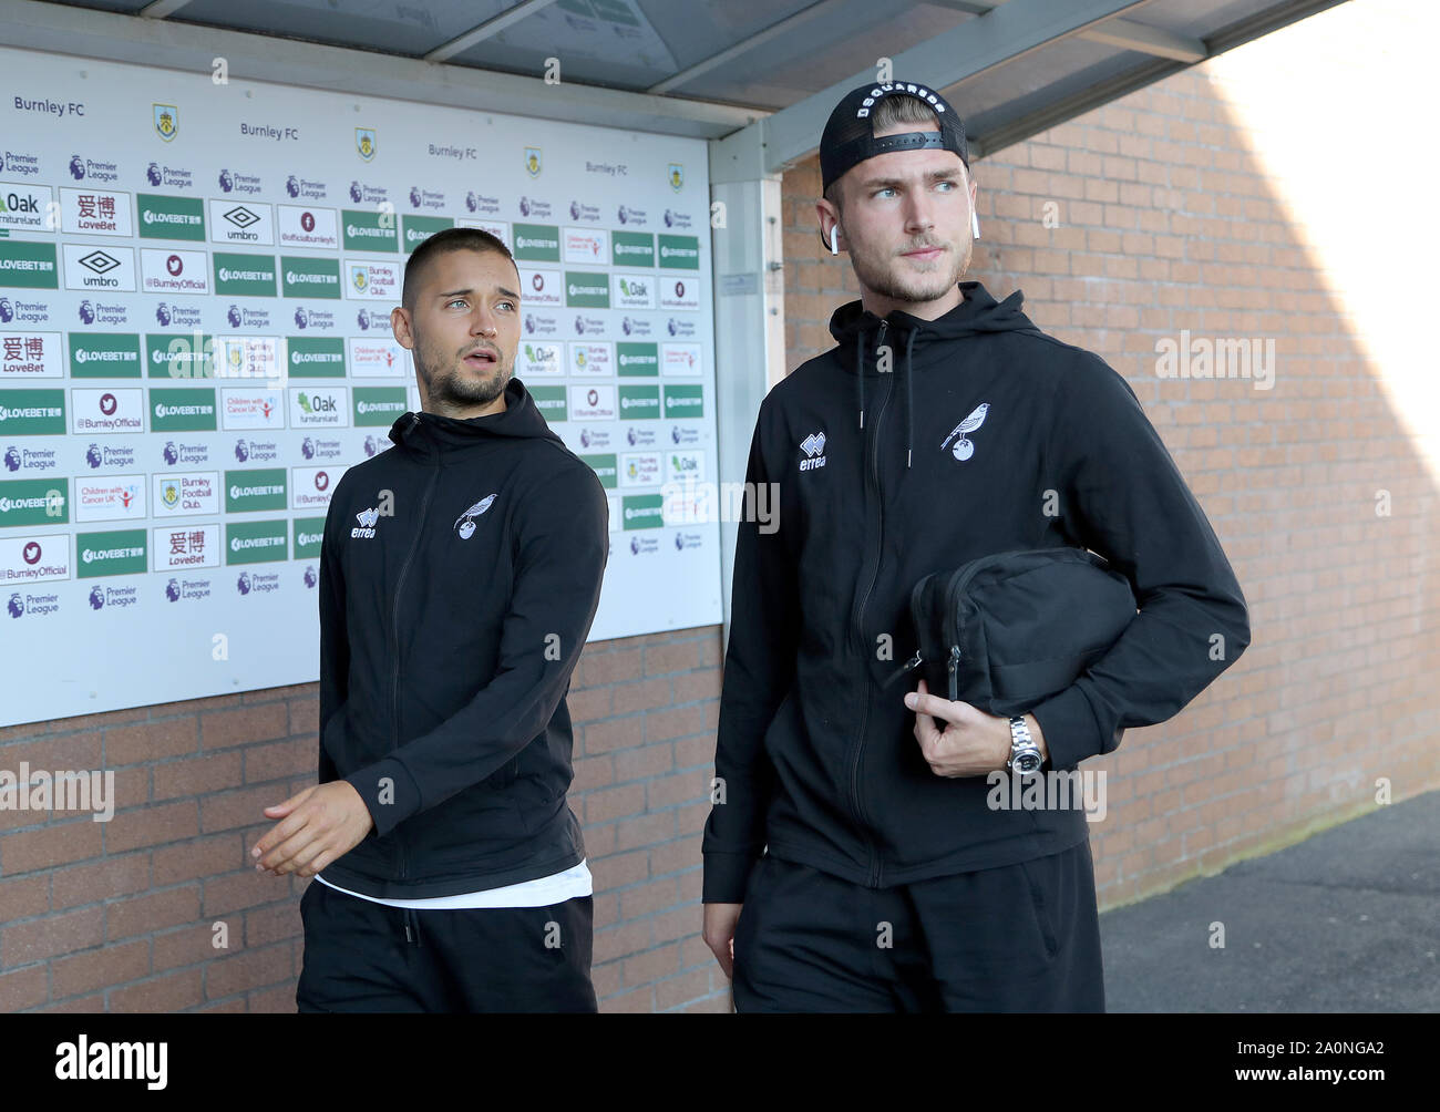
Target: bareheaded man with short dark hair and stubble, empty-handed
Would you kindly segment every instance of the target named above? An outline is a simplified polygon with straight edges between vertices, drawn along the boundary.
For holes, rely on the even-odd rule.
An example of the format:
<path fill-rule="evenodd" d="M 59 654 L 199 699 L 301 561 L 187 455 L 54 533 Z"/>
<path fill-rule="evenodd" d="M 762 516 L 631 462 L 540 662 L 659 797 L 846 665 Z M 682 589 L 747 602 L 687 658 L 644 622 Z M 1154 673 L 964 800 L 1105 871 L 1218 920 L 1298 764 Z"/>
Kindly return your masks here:
<path fill-rule="evenodd" d="M 513 377 L 520 285 L 488 232 L 415 249 L 390 324 L 420 412 L 330 503 L 320 784 L 253 850 L 320 882 L 300 1011 L 596 1010 L 564 696 L 609 507 Z"/>

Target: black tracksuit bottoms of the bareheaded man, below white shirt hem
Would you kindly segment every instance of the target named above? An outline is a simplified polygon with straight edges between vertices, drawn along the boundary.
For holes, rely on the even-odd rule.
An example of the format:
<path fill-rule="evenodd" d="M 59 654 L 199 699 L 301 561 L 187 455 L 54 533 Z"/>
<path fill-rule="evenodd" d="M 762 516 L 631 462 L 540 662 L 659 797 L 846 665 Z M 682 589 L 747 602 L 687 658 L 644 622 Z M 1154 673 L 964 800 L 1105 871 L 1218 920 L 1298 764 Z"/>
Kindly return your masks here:
<path fill-rule="evenodd" d="M 298 1011 L 596 1011 L 595 899 L 392 907 L 311 882 Z"/>

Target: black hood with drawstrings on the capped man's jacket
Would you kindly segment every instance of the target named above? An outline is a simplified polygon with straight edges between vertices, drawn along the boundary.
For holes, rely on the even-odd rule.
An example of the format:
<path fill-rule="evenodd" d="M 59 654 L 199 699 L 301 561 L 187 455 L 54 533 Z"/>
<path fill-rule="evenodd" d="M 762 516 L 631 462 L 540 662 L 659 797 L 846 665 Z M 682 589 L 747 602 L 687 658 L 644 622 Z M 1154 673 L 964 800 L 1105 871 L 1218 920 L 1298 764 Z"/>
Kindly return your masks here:
<path fill-rule="evenodd" d="M 878 344 L 881 327 L 886 340 L 893 340 L 893 350 L 899 359 L 891 359 L 888 370 L 899 372 L 903 379 L 906 400 L 906 467 L 910 467 L 914 405 L 910 389 L 910 363 L 913 356 L 924 357 L 933 354 L 933 349 L 968 336 L 981 333 L 1002 331 L 1032 331 L 1040 334 L 1040 328 L 1020 311 L 1025 295 L 1018 290 L 1004 301 L 996 301 L 979 282 L 960 282 L 962 301 L 943 317 L 922 320 L 904 310 L 891 310 L 884 318 L 877 317 L 860 301 L 850 301 L 829 318 L 829 334 L 840 344 L 837 357 L 847 375 L 855 376 L 855 409 L 860 428 L 865 426 L 865 376 L 881 373 L 876 364 L 874 351 L 868 359 L 867 343 Z M 861 373 L 857 373 L 860 369 Z"/>

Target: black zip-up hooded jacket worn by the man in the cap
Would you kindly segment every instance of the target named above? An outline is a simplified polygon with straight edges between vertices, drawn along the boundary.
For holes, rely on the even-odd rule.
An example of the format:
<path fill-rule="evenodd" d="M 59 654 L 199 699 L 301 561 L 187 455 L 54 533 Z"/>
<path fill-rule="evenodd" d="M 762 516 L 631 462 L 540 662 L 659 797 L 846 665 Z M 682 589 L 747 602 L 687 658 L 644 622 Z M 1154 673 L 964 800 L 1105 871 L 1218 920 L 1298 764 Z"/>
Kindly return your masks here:
<path fill-rule="evenodd" d="M 924 762 L 913 677 L 881 687 L 916 648 L 923 575 L 1074 544 L 1130 580 L 1126 632 L 1030 709 L 1047 771 L 1174 716 L 1250 641 L 1220 542 L 1125 379 L 1041 333 L 1020 292 L 960 291 L 935 321 L 842 305 L 838 346 L 760 405 L 746 480 L 776 484 L 779 511 L 739 527 L 706 902 L 743 902 L 766 846 L 884 887 L 1086 838 L 1081 808 L 991 810 L 985 776 Z"/>

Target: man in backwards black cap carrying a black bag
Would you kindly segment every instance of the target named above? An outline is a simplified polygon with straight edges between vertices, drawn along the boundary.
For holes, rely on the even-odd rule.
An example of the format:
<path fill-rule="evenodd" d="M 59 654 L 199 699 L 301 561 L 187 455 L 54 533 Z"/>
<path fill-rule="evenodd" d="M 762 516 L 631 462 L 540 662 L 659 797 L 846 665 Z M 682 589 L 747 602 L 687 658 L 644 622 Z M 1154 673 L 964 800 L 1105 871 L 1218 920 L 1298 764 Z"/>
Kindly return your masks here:
<path fill-rule="evenodd" d="M 1018 291 L 958 282 L 979 225 L 953 108 L 864 85 L 819 157 L 861 298 L 756 421 L 746 480 L 788 508 L 740 524 L 706 943 L 742 1013 L 1103 1011 L 1084 812 L 995 810 L 986 776 L 1031 743 L 1073 771 L 1175 714 L 1248 644 L 1244 596 L 1125 379 Z M 1074 684 L 1014 719 L 883 686 L 922 575 L 1060 544 L 1139 601 Z"/>

